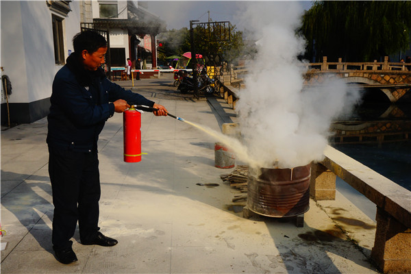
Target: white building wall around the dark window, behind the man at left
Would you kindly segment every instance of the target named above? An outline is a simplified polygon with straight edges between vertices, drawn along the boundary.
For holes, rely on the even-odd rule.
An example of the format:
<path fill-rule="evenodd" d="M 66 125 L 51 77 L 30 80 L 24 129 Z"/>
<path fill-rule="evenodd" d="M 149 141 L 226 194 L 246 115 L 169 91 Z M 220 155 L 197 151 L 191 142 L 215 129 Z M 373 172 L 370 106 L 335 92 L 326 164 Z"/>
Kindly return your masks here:
<path fill-rule="evenodd" d="M 30 103 L 51 96 L 55 73 L 51 10 L 46 1 L 1 1 L 1 66 L 10 77 L 10 103 Z M 70 3 L 64 19 L 64 55 L 73 51 L 72 38 L 80 31 L 79 2 Z M 7 27 L 5 27 L 7 26 Z"/>

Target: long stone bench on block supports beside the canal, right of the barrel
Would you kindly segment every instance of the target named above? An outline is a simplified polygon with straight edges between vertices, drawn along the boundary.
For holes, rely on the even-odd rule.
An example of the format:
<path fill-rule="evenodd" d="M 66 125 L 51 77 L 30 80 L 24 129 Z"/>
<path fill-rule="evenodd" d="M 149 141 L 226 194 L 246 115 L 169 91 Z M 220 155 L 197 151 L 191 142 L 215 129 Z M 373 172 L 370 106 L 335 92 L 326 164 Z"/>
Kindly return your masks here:
<path fill-rule="evenodd" d="M 332 147 L 324 154 L 312 164 L 312 198 L 335 199 L 336 176 L 358 190 L 377 206 L 371 258 L 384 273 L 411 272 L 411 192 Z"/>

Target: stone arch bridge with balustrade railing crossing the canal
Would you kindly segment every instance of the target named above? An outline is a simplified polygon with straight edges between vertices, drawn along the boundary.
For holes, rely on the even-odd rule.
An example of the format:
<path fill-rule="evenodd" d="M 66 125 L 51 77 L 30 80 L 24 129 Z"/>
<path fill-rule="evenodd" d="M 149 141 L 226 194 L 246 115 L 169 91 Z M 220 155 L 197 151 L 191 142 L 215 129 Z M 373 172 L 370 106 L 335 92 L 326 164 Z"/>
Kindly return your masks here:
<path fill-rule="evenodd" d="M 304 64 L 307 73 L 304 84 L 315 86 L 326 79 L 338 77 L 360 88 L 379 88 L 394 103 L 411 89 L 411 64 L 388 62 L 327 62 Z"/>

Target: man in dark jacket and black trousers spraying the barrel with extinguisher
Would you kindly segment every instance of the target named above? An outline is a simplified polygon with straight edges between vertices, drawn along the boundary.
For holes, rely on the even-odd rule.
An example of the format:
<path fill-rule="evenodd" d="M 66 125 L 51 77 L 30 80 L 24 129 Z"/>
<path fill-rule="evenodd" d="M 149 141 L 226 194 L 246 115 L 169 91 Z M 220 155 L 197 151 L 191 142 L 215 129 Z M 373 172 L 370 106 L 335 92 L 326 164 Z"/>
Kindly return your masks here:
<path fill-rule="evenodd" d="M 49 132 L 49 175 L 53 190 L 52 242 L 55 258 L 63 264 L 77 261 L 70 240 L 79 223 L 83 245 L 113 246 L 117 240 L 99 232 L 100 179 L 97 141 L 105 121 L 124 112 L 127 102 L 166 108 L 125 90 L 105 77 L 101 64 L 107 51 L 103 36 L 93 31 L 76 34 L 74 52 L 53 81 Z"/>

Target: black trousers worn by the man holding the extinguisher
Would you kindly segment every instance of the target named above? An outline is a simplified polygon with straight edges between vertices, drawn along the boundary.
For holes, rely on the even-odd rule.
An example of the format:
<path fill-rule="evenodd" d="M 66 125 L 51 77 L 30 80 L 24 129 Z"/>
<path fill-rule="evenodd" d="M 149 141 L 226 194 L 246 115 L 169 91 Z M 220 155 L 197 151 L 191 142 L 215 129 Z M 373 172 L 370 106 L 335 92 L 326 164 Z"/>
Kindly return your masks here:
<path fill-rule="evenodd" d="M 77 152 L 49 147 L 53 190 L 54 249 L 71 247 L 77 221 L 80 240 L 95 234 L 99 222 L 100 175 L 97 151 Z"/>

